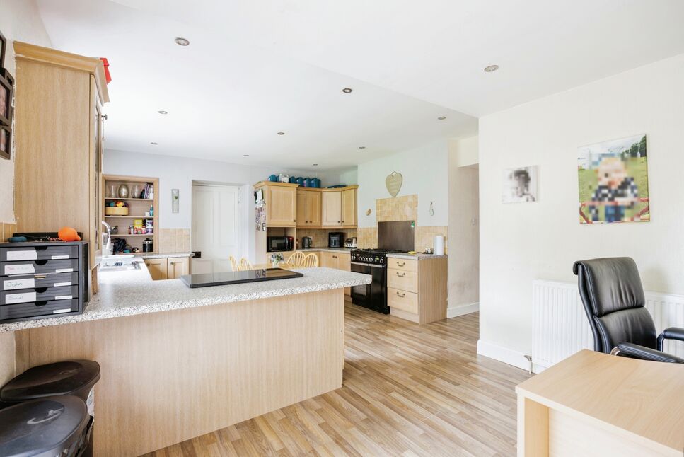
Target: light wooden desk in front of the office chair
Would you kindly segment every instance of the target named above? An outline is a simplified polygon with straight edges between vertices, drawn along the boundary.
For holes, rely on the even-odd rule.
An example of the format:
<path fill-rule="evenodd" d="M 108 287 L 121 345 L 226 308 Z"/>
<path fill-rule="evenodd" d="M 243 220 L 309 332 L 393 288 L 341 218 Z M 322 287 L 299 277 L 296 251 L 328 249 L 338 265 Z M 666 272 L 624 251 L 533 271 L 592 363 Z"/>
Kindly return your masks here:
<path fill-rule="evenodd" d="M 518 456 L 684 453 L 684 364 L 584 349 L 516 393 Z"/>

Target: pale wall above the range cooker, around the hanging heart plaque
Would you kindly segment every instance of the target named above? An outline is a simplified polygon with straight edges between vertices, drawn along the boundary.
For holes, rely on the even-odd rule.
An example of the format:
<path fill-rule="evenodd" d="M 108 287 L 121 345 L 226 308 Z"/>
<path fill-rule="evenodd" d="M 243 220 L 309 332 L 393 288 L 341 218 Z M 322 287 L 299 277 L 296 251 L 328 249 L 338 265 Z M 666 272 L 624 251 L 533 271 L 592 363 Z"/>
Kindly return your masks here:
<path fill-rule="evenodd" d="M 418 195 L 420 226 L 448 225 L 448 142 L 439 140 L 359 165 L 359 227 L 376 225 L 376 199 L 390 197 L 385 178 L 393 171 L 403 176 L 398 196 Z M 366 216 L 369 208 L 373 212 Z"/>

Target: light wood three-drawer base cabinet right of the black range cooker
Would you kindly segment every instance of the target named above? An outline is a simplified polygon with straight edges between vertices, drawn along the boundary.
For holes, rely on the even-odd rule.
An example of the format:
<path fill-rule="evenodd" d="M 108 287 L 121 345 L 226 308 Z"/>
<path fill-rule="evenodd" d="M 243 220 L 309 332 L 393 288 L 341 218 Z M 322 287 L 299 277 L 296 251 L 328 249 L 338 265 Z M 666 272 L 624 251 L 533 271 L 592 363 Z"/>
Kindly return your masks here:
<path fill-rule="evenodd" d="M 419 324 L 446 319 L 446 257 L 387 258 L 390 313 Z"/>

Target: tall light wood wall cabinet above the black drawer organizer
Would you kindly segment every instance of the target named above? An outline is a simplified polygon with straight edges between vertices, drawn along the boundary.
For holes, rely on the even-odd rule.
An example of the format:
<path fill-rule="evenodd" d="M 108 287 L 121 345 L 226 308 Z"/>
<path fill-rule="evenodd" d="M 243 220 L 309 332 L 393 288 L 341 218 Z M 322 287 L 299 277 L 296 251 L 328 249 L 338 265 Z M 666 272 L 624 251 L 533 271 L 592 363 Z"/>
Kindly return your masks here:
<path fill-rule="evenodd" d="M 102 61 L 14 42 L 14 201 L 18 231 L 71 226 L 89 242 L 93 291 L 102 253 Z"/>

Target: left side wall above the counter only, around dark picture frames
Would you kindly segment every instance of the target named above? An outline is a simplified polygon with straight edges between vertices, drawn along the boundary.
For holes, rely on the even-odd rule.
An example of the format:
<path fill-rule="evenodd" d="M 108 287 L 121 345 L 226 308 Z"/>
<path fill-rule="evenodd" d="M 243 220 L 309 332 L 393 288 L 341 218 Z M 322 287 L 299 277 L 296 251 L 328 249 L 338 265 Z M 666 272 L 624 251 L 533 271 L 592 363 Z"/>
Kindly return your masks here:
<path fill-rule="evenodd" d="M 14 41 L 50 47 L 47 36 L 33 0 L 0 0 L 0 32 L 7 39 L 5 68 L 16 76 Z M 21 84 L 21 81 L 15 81 Z M 14 221 L 14 151 L 10 161 L 0 158 L 0 221 Z"/>

